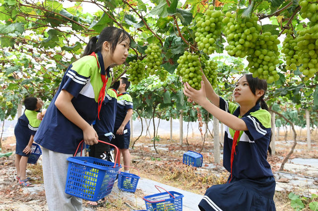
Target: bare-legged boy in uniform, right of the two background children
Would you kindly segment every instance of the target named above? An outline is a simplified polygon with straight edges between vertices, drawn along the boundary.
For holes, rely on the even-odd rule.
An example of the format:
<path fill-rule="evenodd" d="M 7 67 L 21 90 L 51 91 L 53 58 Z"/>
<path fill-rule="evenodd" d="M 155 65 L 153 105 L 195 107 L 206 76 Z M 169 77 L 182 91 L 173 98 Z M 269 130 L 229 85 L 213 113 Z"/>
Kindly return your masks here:
<path fill-rule="evenodd" d="M 117 112 L 114 126 L 115 138 L 111 143 L 119 148 L 120 153 L 123 155 L 124 170 L 129 173 L 131 156 L 129 152 L 130 143 L 130 124 L 129 120 L 133 115 L 133 100 L 126 92 L 130 86 L 127 78 L 120 79 L 120 86 L 118 88 L 119 95 L 117 97 Z M 115 155 L 116 156 L 116 155 Z"/>

